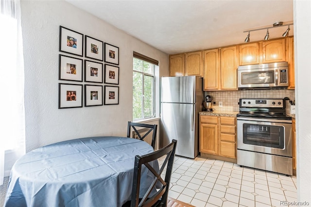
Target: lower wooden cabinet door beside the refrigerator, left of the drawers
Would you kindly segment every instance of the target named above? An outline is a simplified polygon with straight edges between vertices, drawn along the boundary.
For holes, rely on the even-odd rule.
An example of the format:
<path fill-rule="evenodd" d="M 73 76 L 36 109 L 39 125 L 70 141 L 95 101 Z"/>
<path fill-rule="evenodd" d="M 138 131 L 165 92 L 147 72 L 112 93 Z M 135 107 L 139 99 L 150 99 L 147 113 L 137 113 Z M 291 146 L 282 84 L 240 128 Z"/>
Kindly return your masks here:
<path fill-rule="evenodd" d="M 200 124 L 200 152 L 218 154 L 218 132 L 217 124 Z"/>

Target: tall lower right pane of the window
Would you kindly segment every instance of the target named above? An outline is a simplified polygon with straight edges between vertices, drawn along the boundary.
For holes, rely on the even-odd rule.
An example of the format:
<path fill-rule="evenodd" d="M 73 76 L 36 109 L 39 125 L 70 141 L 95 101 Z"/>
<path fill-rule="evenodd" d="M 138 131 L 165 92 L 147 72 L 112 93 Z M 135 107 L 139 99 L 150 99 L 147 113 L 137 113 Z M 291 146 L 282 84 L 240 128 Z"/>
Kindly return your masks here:
<path fill-rule="evenodd" d="M 144 75 L 144 117 L 154 115 L 154 77 Z"/>

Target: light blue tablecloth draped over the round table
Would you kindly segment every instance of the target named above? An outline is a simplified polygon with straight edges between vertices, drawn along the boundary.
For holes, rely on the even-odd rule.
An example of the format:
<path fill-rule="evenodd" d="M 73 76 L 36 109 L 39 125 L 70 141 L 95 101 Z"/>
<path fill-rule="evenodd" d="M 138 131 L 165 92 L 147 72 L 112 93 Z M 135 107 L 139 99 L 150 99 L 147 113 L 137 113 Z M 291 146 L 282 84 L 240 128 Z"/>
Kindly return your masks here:
<path fill-rule="evenodd" d="M 35 149 L 14 164 L 5 207 L 119 207 L 130 200 L 135 155 L 153 152 L 134 138 L 93 137 Z M 158 163 L 152 164 L 154 167 Z M 142 173 L 146 191 L 153 176 Z"/>

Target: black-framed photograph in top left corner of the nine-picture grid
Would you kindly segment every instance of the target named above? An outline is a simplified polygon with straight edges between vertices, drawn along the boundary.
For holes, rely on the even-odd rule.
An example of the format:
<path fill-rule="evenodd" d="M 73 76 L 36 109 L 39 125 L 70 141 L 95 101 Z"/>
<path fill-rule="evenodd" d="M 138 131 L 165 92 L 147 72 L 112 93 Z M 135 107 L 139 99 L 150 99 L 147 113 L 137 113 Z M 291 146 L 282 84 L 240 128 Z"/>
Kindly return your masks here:
<path fill-rule="evenodd" d="M 59 26 L 59 51 L 83 57 L 83 34 Z"/>

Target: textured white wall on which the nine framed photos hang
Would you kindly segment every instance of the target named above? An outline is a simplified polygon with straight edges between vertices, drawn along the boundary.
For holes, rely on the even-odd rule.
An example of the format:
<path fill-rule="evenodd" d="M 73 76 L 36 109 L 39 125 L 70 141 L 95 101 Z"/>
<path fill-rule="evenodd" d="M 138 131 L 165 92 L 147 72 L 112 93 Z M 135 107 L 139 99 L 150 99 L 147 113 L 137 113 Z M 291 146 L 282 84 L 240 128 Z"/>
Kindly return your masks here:
<path fill-rule="evenodd" d="M 127 121 L 132 121 L 133 51 L 158 60 L 160 77 L 169 74 L 168 55 L 66 1 L 24 0 L 21 12 L 26 152 L 73 138 L 126 136 Z M 58 80 L 58 55 L 69 55 L 59 52 L 60 25 L 119 47 L 119 105 L 58 109 L 58 83 L 92 84 Z"/>

